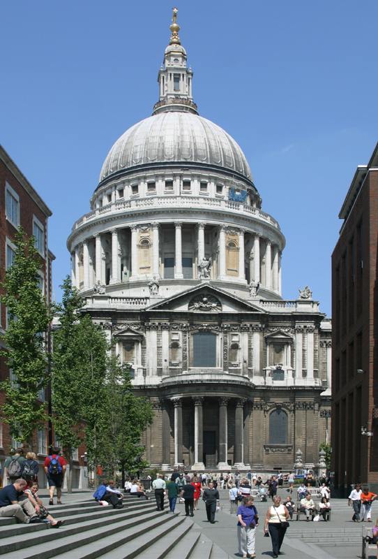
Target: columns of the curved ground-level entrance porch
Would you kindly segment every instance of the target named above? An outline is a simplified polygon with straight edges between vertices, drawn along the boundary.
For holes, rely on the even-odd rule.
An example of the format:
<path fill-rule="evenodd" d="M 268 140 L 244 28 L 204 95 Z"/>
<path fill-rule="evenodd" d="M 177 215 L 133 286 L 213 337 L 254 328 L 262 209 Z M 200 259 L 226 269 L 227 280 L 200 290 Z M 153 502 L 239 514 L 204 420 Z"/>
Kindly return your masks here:
<path fill-rule="evenodd" d="M 193 468 L 203 469 L 206 465 L 203 463 L 204 457 L 204 397 L 192 396 L 191 404 L 194 406 L 194 464 Z M 185 402 L 190 401 L 185 398 Z M 249 456 L 249 409 L 246 400 L 243 398 L 232 399 L 220 397 L 218 400 L 218 469 L 228 470 L 228 448 L 229 436 L 227 430 L 229 402 L 234 403 L 234 409 L 230 412 L 234 413 L 235 433 L 234 433 L 234 467 L 244 467 L 248 463 Z M 184 398 L 172 398 L 165 400 L 162 406 L 162 467 L 171 466 L 170 454 L 170 432 L 171 425 L 169 421 L 169 409 L 174 406 L 174 465 L 183 465 L 183 403 Z"/>

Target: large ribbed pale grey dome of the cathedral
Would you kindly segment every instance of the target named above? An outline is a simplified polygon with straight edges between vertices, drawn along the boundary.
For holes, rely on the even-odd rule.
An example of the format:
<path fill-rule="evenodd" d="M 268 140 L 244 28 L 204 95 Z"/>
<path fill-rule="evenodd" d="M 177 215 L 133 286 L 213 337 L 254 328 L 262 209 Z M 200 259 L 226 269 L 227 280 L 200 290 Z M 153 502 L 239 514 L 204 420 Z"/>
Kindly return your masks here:
<path fill-rule="evenodd" d="M 107 154 L 100 182 L 135 166 L 177 162 L 222 167 L 252 180 L 241 147 L 220 126 L 190 112 L 171 111 L 126 130 Z"/>

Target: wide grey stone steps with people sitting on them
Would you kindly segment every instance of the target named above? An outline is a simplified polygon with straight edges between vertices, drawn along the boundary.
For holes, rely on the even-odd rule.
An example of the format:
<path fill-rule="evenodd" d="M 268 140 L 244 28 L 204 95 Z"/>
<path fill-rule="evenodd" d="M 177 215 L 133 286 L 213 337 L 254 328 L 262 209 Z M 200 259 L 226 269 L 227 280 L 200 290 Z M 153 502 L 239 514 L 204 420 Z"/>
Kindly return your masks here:
<path fill-rule="evenodd" d="M 149 501 L 123 498 L 123 509 L 93 499 L 50 507 L 61 528 L 0 518 L 0 559 L 229 559 L 182 514 L 156 511 Z"/>

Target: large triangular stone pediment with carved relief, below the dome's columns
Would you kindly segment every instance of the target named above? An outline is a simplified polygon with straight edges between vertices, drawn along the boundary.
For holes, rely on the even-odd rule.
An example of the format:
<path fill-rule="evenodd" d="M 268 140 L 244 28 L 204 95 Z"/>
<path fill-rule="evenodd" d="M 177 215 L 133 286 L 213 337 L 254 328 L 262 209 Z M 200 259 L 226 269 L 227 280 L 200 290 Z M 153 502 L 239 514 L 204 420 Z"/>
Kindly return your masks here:
<path fill-rule="evenodd" d="M 172 310 L 181 312 L 252 312 L 266 314 L 249 301 L 211 284 L 200 284 L 158 301 L 146 310 Z"/>

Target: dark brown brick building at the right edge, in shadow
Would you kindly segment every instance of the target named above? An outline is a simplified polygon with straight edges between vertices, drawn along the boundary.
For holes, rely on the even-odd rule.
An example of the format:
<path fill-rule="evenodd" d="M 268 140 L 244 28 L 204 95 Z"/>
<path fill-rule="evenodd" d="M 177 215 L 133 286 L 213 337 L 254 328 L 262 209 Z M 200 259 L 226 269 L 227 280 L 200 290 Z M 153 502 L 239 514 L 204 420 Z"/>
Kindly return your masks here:
<path fill-rule="evenodd" d="M 332 255 L 332 447 L 335 488 L 378 490 L 378 144 L 358 166 Z"/>

